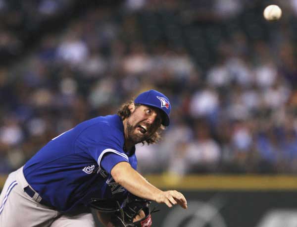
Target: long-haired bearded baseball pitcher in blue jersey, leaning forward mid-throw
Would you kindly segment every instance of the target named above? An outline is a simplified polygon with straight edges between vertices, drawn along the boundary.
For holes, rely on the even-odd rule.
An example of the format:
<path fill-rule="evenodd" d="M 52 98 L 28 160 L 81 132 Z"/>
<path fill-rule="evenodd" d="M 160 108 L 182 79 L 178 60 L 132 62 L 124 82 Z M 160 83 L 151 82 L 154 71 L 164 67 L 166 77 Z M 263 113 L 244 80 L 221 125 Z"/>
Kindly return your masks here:
<path fill-rule="evenodd" d="M 136 171 L 135 144 L 156 142 L 170 110 L 165 95 L 149 90 L 118 114 L 84 121 L 53 138 L 9 174 L 0 194 L 0 227 L 94 227 L 90 200 L 123 201 L 128 193 L 186 209 L 182 193 L 161 191 Z M 104 226 L 113 226 L 110 215 L 98 215 Z"/>

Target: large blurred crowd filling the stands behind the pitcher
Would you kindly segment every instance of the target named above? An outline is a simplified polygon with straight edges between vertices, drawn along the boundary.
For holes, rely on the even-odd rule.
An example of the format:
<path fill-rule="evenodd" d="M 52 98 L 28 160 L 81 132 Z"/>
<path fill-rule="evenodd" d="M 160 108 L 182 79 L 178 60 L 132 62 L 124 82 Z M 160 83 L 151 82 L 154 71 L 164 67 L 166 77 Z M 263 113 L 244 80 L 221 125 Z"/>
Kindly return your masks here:
<path fill-rule="evenodd" d="M 71 0 L 32 2 L 39 18 Z M 276 1 L 274 23 L 267 2 L 126 0 L 41 37 L 0 68 L 0 173 L 151 88 L 170 98 L 171 125 L 137 145 L 143 173 L 297 173 L 297 0 Z"/>

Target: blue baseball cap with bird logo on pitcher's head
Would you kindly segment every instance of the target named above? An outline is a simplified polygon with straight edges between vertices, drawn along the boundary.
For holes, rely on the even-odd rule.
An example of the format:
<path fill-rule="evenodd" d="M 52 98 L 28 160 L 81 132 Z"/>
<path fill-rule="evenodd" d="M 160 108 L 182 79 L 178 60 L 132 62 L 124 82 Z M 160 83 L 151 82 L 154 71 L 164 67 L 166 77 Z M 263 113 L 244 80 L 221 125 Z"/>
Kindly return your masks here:
<path fill-rule="evenodd" d="M 141 93 L 136 97 L 134 103 L 143 104 L 147 106 L 152 106 L 163 111 L 162 124 L 168 126 L 170 123 L 169 114 L 171 110 L 171 105 L 169 99 L 163 95 L 161 92 L 156 90 L 149 90 Z"/>

